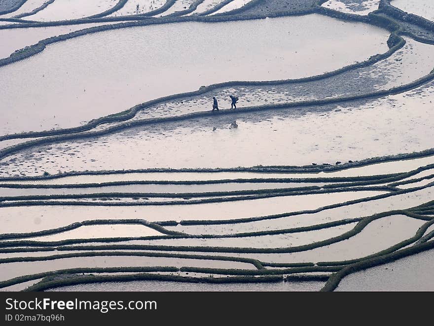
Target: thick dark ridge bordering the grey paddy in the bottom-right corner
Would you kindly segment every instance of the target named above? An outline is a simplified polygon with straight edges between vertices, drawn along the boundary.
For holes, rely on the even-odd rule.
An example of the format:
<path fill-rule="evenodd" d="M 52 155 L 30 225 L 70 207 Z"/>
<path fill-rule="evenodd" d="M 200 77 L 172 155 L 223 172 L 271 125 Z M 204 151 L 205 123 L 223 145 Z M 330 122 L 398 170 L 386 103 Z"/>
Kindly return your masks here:
<path fill-rule="evenodd" d="M 333 291 L 337 288 L 340 281 L 347 275 L 379 265 L 386 264 L 404 258 L 413 254 L 419 254 L 421 252 L 434 248 L 434 241 L 429 241 L 422 244 L 416 244 L 410 248 L 402 249 L 394 253 L 381 255 L 378 257 L 370 258 L 357 262 L 355 264 L 348 265 L 341 269 L 339 272 L 332 274 L 321 291 Z"/>

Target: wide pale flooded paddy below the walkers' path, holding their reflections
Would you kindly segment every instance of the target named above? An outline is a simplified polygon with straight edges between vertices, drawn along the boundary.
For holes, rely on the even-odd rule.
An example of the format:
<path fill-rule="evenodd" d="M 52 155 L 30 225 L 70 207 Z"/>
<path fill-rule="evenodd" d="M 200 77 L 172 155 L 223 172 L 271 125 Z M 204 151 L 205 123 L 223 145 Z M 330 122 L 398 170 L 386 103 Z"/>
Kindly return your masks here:
<path fill-rule="evenodd" d="M 296 116 L 282 111 L 213 116 L 59 143 L 42 147 L 40 153 L 31 148 L 5 158 L 10 165 L 2 172 L 18 175 L 12 170 L 19 164 L 26 175 L 122 170 L 125 161 L 132 169 L 335 164 L 421 151 L 432 147 L 428 117 L 434 115 L 430 109 L 433 85 L 362 106 L 337 106 L 325 113 L 305 110 Z M 234 120 L 237 128 L 232 126 Z M 252 144 L 254 152 L 249 149 Z M 210 147 L 213 150 L 208 150 Z M 39 162 L 45 162 L 43 168 Z M 370 174 L 378 173 L 372 170 Z"/>

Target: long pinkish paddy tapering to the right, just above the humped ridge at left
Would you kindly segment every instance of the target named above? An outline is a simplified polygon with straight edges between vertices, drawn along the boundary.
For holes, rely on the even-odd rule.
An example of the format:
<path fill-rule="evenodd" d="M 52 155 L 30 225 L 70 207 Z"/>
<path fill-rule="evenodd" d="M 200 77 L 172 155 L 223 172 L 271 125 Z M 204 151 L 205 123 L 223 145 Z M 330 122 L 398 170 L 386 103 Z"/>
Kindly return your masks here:
<path fill-rule="evenodd" d="M 164 206 L 36 206 L 2 207 L 0 221 L 2 232 L 31 232 L 60 227 L 86 219 L 141 218 L 148 221 L 231 219 L 281 214 L 291 211 L 315 209 L 352 199 L 382 194 L 382 191 L 328 193 L 205 203 L 195 205 Z M 315 203 L 314 207 L 312 203 Z"/>

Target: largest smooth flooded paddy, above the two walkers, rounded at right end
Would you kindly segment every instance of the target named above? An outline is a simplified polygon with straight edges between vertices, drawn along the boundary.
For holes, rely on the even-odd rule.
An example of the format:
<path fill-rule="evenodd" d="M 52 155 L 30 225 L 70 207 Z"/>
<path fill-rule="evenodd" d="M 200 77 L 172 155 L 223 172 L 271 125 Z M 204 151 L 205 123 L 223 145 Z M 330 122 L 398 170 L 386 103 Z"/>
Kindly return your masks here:
<path fill-rule="evenodd" d="M 216 47 L 225 47 L 235 37 L 239 45 L 233 51 L 203 51 L 210 37 Z M 306 46 L 306 37 L 311 45 Z M 76 37 L 0 69 L 0 83 L 5 85 L 0 96 L 5 107 L 12 108 L 3 119 L 7 133 L 73 127 L 202 85 L 297 78 L 339 69 L 386 52 L 387 37 L 385 30 L 321 15 L 166 24 Z M 29 83 L 35 86 L 24 87 Z"/>

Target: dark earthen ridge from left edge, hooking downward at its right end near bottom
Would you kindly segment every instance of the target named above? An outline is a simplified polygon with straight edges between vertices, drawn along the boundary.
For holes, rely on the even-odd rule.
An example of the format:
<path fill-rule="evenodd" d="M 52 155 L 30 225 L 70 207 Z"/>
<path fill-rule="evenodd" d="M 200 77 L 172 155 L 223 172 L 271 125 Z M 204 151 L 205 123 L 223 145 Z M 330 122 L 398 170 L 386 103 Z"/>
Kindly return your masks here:
<path fill-rule="evenodd" d="M 66 247 L 64 247 L 66 248 Z M 75 250 L 75 249 L 72 249 Z M 197 255 L 197 254 L 170 254 L 170 253 L 157 253 L 157 252 L 84 252 L 72 254 L 56 254 L 44 257 L 9 257 L 0 259 L 0 264 L 20 261 L 44 261 L 55 260 L 61 258 L 75 258 L 75 257 L 96 257 L 96 256 L 143 256 L 143 257 L 167 257 L 167 258 L 188 258 L 200 260 L 224 260 L 224 261 L 238 261 L 250 263 L 257 269 L 265 269 L 259 260 L 244 257 L 231 257 L 231 256 L 215 256 L 215 255 Z"/>

